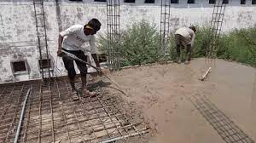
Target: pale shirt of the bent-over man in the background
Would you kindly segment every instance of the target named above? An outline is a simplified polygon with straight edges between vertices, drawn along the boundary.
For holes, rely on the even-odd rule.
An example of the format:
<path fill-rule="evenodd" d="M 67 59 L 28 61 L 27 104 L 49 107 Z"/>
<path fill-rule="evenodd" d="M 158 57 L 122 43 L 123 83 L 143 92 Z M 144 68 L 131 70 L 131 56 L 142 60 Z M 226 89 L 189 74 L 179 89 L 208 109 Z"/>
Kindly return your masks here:
<path fill-rule="evenodd" d="M 189 27 L 181 27 L 175 31 L 175 34 L 181 35 L 186 39 L 186 44 L 194 44 L 195 32 Z"/>

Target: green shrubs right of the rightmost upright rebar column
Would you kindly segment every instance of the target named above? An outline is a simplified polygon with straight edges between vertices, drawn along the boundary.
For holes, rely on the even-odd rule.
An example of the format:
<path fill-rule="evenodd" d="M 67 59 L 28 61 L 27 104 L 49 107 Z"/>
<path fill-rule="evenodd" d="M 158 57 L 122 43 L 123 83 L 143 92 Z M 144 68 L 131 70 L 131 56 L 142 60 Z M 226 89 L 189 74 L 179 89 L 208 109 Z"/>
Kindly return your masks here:
<path fill-rule="evenodd" d="M 256 66 L 256 27 L 231 31 L 219 41 L 218 58 Z"/>

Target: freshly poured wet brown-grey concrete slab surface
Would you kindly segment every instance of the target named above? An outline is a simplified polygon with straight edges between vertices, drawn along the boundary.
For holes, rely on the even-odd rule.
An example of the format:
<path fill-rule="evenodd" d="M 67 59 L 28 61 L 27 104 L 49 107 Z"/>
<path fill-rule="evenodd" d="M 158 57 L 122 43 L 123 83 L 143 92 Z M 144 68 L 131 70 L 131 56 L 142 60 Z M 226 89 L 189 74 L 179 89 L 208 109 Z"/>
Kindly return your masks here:
<path fill-rule="evenodd" d="M 212 66 L 207 80 L 199 77 Z M 154 64 L 113 72 L 126 100 L 156 130 L 150 143 L 225 142 L 189 100 L 205 95 L 252 140 L 256 140 L 256 69 L 225 60 L 195 59 L 189 65 Z M 112 84 L 111 86 L 114 87 Z M 113 94 L 116 90 L 110 89 Z"/>

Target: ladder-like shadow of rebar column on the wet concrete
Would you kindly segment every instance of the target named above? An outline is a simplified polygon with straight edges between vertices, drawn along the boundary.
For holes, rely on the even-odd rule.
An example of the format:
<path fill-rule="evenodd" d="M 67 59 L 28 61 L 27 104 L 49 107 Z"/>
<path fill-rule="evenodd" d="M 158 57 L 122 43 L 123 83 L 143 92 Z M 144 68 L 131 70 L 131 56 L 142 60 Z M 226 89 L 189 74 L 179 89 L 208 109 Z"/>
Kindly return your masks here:
<path fill-rule="evenodd" d="M 227 143 L 254 143 L 233 121 L 221 112 L 205 96 L 193 95 L 190 98 L 195 108 L 207 119 L 207 122 L 218 132 Z"/>

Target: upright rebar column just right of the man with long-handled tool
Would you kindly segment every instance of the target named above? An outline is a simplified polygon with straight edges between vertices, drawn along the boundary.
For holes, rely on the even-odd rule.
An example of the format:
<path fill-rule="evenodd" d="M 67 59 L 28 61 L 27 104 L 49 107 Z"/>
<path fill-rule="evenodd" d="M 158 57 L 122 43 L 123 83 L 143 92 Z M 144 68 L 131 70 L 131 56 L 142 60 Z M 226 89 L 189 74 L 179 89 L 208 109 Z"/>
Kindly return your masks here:
<path fill-rule="evenodd" d="M 107 0 L 108 20 L 108 65 L 112 70 L 119 69 L 119 0 Z"/>

